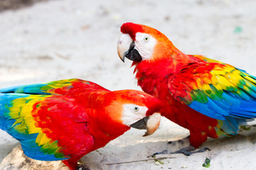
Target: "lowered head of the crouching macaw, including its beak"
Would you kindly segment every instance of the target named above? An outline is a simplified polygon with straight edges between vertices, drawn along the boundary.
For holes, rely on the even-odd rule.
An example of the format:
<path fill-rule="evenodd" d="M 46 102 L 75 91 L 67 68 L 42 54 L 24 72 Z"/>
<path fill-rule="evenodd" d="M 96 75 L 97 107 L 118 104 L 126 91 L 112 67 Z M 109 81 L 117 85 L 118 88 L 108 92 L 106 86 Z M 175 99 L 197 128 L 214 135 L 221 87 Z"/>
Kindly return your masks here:
<path fill-rule="evenodd" d="M 159 127 L 162 105 L 159 99 L 142 91 L 112 91 L 111 104 L 107 106 L 114 122 L 128 127 L 145 129 L 145 135 L 153 134 Z"/>

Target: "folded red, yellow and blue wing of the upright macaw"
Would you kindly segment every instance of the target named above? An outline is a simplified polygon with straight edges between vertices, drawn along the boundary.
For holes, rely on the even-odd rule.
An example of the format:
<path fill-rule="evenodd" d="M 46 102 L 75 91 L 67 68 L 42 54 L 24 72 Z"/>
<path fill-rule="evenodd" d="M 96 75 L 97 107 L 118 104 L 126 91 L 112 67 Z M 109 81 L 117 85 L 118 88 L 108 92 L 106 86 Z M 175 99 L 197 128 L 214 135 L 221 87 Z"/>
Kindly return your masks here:
<path fill-rule="evenodd" d="M 228 64 L 191 64 L 168 86 L 176 100 L 210 118 L 256 118 L 256 78 Z"/>

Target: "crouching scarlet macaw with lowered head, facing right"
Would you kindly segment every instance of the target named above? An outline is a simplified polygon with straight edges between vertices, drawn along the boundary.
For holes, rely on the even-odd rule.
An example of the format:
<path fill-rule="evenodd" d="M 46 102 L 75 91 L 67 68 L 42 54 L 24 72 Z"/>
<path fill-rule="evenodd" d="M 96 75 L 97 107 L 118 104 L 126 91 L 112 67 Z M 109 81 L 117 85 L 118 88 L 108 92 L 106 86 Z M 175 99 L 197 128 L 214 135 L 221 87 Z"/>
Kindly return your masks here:
<path fill-rule="evenodd" d="M 142 91 L 109 91 L 81 79 L 0 89 L 0 128 L 21 142 L 26 156 L 71 170 L 85 154 L 132 128 L 151 135 L 161 102 Z"/>

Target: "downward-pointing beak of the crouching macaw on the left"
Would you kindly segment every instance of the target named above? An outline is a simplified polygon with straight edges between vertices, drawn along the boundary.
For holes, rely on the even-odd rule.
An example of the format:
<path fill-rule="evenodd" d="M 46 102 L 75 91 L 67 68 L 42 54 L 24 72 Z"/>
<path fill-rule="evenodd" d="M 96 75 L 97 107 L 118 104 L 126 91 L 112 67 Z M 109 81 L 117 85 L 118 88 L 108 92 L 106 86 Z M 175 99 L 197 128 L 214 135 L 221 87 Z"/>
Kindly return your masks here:
<path fill-rule="evenodd" d="M 141 120 L 138 120 L 136 123 L 133 123 L 130 125 L 132 128 L 136 129 L 146 129 L 145 136 L 152 135 L 157 128 L 159 128 L 160 125 L 160 120 L 161 120 L 161 114 L 160 113 L 154 113 L 153 115 L 146 116 L 142 118 Z"/>

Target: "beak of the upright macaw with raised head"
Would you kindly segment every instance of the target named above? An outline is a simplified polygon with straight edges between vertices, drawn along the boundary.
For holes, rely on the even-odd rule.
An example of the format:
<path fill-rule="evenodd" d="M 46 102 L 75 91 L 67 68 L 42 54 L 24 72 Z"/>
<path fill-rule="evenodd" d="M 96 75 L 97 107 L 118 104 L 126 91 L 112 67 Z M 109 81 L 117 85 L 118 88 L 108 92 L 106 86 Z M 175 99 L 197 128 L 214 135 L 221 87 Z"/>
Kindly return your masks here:
<path fill-rule="evenodd" d="M 117 42 L 117 52 L 119 58 L 124 62 L 124 57 L 127 59 L 140 62 L 142 61 L 142 56 L 139 55 L 139 52 L 134 48 L 135 42 L 129 36 L 129 34 L 122 34 Z"/>

